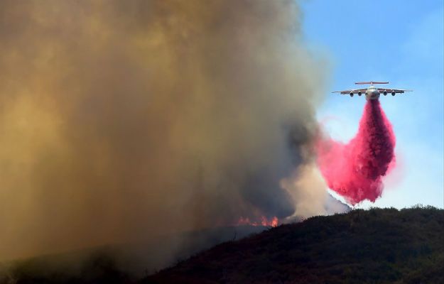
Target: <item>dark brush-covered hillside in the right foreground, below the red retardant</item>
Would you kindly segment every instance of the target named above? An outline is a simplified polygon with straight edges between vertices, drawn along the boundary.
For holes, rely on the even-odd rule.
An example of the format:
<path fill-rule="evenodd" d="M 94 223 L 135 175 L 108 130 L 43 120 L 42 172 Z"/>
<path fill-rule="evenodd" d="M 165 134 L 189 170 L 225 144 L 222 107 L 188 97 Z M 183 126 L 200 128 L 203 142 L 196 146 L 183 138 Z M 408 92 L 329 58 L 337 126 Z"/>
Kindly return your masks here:
<path fill-rule="evenodd" d="M 143 283 L 444 283 L 444 211 L 361 209 L 203 251 Z"/>

